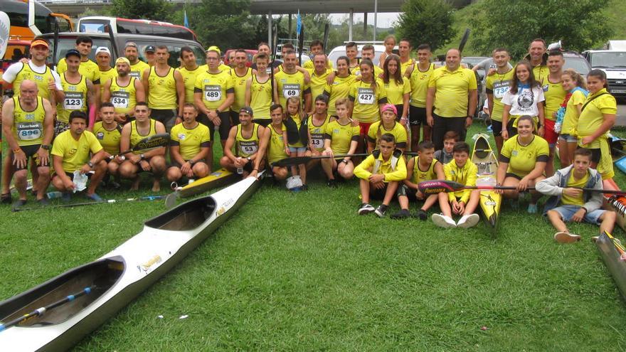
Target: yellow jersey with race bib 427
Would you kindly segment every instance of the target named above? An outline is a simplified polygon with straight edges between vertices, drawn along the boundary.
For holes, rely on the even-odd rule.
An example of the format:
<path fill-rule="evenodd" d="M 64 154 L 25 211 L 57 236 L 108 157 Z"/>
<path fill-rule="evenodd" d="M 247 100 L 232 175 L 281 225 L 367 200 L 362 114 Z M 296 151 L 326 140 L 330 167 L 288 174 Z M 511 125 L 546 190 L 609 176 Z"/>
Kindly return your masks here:
<path fill-rule="evenodd" d="M 387 93 L 382 80 L 376 80 L 376 90 L 371 83 L 359 80 L 350 86 L 349 98 L 354 102 L 352 118 L 359 122 L 371 123 L 381 119 L 378 104 L 387 101 Z"/>

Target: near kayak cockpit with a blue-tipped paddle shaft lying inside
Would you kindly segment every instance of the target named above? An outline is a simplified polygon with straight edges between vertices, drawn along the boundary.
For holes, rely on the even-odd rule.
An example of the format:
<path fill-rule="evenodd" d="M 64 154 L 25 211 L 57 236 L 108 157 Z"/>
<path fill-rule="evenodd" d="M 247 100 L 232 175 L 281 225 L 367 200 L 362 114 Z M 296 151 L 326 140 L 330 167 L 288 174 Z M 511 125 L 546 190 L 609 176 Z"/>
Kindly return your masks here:
<path fill-rule="evenodd" d="M 107 292 L 122 277 L 124 267 L 121 257 L 112 257 L 65 272 L 23 294 L 0 302 L 0 322 L 6 324 L 8 321 L 29 314 L 36 309 L 51 306 L 89 287 L 88 294 L 77 296 L 53 309 L 48 309 L 45 314 L 21 321 L 18 326 L 47 326 L 62 323 Z"/>

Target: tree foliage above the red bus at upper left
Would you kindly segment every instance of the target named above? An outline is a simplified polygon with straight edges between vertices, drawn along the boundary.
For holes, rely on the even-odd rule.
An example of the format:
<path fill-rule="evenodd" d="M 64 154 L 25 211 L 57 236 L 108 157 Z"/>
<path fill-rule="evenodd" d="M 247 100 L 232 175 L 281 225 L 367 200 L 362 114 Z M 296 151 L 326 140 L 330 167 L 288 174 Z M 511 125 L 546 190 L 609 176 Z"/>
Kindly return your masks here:
<path fill-rule="evenodd" d="M 111 14 L 124 18 L 169 21 L 174 5 L 165 0 L 113 0 Z"/>

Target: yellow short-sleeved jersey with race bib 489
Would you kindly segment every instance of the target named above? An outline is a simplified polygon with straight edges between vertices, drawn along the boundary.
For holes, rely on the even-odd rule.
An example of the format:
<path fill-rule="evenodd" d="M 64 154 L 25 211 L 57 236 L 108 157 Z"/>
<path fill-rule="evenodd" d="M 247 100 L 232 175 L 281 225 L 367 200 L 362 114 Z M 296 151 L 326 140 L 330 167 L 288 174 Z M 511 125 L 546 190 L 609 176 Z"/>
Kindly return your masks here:
<path fill-rule="evenodd" d="M 235 92 L 235 82 L 230 70 L 222 70 L 219 73 L 205 71 L 196 78 L 193 92 L 201 92 L 204 106 L 215 110 L 226 100 L 226 94 Z"/>

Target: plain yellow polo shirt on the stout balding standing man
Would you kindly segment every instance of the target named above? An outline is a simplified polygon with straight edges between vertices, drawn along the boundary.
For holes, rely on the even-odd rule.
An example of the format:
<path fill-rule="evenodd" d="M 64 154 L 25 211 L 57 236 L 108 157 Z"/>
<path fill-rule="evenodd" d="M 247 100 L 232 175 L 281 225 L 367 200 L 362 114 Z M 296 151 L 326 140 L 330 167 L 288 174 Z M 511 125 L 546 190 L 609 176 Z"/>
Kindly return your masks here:
<path fill-rule="evenodd" d="M 469 68 L 450 71 L 437 68 L 428 81 L 435 88 L 435 114 L 440 117 L 467 117 L 470 90 L 477 89 L 476 75 Z"/>

